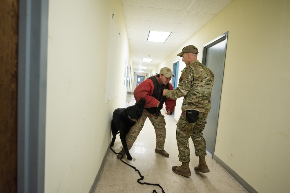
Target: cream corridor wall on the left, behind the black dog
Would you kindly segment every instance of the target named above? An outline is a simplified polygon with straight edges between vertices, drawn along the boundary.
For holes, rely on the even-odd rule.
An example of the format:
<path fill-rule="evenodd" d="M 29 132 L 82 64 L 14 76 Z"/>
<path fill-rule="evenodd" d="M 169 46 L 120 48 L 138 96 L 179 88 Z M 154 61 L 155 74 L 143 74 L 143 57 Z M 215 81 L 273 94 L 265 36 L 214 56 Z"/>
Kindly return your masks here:
<path fill-rule="evenodd" d="M 105 102 L 110 12 L 121 53 L 116 98 Z M 111 140 L 110 120 L 126 105 L 131 65 L 119 0 L 49 1 L 45 192 L 89 192 Z M 114 57 L 114 56 L 112 56 Z"/>

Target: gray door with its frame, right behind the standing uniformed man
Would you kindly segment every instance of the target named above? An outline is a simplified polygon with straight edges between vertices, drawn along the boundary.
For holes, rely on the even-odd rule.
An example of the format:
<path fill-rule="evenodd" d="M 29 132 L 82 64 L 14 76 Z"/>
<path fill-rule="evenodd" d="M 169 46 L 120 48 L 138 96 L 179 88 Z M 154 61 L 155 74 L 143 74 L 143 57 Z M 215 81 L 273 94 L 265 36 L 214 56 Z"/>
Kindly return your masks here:
<path fill-rule="evenodd" d="M 211 111 L 207 117 L 207 124 L 203 131 L 206 141 L 206 149 L 215 152 L 215 141 L 218 129 L 218 115 L 220 111 L 220 97 L 222 93 L 222 80 L 224 76 L 224 62 L 226 56 L 226 41 L 228 32 L 222 34 L 203 47 L 202 63 L 209 67 L 215 75 L 213 90 L 211 94 Z"/>

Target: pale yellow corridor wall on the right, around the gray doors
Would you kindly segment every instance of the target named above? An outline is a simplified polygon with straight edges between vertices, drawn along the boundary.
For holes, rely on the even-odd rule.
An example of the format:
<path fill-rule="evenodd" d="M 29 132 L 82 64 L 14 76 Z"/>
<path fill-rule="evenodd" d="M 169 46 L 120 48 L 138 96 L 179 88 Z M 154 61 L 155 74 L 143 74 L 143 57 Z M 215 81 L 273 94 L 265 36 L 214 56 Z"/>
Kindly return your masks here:
<path fill-rule="evenodd" d="M 289 20 L 288 0 L 234 0 L 157 67 L 229 31 L 215 155 L 263 193 L 290 191 Z"/>

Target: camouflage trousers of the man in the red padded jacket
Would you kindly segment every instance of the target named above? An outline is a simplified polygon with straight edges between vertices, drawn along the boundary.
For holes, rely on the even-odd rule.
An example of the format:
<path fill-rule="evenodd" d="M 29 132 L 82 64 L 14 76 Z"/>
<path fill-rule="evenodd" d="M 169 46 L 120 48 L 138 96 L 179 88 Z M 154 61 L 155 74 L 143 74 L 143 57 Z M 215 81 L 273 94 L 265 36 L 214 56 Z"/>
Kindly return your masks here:
<path fill-rule="evenodd" d="M 149 113 L 144 109 L 142 117 L 138 119 L 138 121 L 135 123 L 133 127 L 131 127 L 131 130 L 126 135 L 126 142 L 129 150 L 132 148 L 134 142 L 136 141 L 140 131 L 144 126 L 147 117 L 149 118 L 155 129 L 157 150 L 164 149 L 164 143 L 166 138 L 166 128 L 165 128 L 166 123 L 164 120 L 164 115 L 162 115 L 160 112 L 159 116 L 156 117 L 155 114 L 151 115 L 151 113 Z"/>

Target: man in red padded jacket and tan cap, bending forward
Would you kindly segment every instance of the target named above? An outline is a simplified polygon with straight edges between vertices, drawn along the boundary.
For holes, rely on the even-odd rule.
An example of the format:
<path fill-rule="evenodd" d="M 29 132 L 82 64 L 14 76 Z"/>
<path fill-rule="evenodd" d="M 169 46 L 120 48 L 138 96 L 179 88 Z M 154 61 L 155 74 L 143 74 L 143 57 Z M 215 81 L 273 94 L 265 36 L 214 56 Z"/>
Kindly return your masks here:
<path fill-rule="evenodd" d="M 134 90 L 134 98 L 136 102 L 139 102 L 141 98 L 145 99 L 145 106 L 142 113 L 142 117 L 131 127 L 131 130 L 126 136 L 126 142 L 128 149 L 130 150 L 136 141 L 140 131 L 142 130 L 147 117 L 151 121 L 156 134 L 156 148 L 155 152 L 168 157 L 169 154 L 164 150 L 164 143 L 166 138 L 166 128 L 164 115 L 160 112 L 165 102 L 165 108 L 167 115 L 171 115 L 176 105 L 176 99 L 166 98 L 162 95 L 163 89 L 173 90 L 173 87 L 169 81 L 171 76 L 174 77 L 170 68 L 164 67 L 160 69 L 160 73 L 151 76 L 141 82 Z M 125 155 L 124 148 L 122 148 L 122 155 Z M 121 154 L 117 155 L 118 159 L 122 159 Z"/>

